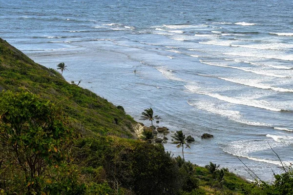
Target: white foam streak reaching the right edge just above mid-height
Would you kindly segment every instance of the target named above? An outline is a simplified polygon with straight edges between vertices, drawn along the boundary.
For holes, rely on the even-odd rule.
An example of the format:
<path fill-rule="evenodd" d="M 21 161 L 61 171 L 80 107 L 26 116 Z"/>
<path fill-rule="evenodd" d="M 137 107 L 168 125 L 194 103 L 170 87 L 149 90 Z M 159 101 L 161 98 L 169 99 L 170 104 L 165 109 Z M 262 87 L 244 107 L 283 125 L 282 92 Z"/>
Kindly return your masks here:
<path fill-rule="evenodd" d="M 218 77 L 218 78 L 223 79 L 223 80 L 227 80 L 230 82 L 242 84 L 242 85 L 260 88 L 260 89 L 271 89 L 273 91 L 278 91 L 278 92 L 293 92 L 293 89 L 272 87 L 270 85 L 265 85 L 265 84 L 259 83 L 257 81 L 251 80 L 251 79 L 236 79 L 236 78 L 221 78 L 221 77 Z"/>

